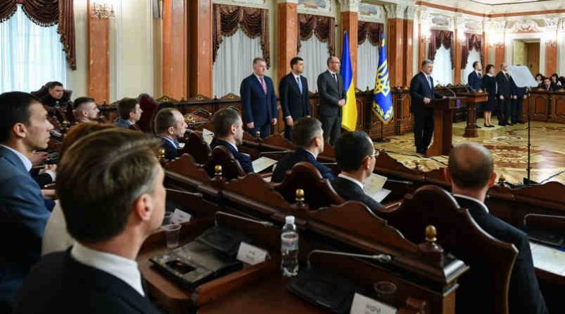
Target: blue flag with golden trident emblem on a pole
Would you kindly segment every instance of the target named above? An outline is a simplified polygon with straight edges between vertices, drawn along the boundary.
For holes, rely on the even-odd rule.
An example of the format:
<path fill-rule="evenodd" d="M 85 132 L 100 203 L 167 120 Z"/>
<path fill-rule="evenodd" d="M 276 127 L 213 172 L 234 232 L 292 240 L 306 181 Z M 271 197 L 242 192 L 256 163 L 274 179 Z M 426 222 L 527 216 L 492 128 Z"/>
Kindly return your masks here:
<path fill-rule="evenodd" d="M 376 70 L 375 88 L 373 90 L 373 111 L 386 124 L 393 119 L 393 96 L 391 95 L 391 82 L 388 80 L 384 35 L 381 42 L 379 66 Z"/>

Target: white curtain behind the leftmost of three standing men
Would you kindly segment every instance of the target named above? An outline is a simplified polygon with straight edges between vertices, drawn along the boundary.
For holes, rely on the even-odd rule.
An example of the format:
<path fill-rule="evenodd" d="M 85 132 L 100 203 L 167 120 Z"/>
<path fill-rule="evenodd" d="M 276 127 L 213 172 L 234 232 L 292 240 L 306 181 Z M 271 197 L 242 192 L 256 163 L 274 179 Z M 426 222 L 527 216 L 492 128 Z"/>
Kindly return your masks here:
<path fill-rule="evenodd" d="M 258 56 L 263 56 L 260 36 L 251 39 L 239 28 L 234 35 L 223 37 L 212 69 L 214 96 L 239 95 L 239 86 L 251 75 L 253 59 Z"/>

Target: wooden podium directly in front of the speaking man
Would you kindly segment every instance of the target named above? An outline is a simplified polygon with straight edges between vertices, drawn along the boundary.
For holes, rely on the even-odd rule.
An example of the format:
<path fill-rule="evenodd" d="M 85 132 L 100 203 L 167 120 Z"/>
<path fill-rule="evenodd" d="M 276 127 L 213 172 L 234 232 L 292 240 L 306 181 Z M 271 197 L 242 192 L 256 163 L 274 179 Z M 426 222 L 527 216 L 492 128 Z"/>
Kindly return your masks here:
<path fill-rule="evenodd" d="M 453 137 L 453 109 L 460 108 L 465 97 L 433 99 L 426 104 L 434 109 L 434 143 L 429 147 L 428 156 L 449 155 Z"/>

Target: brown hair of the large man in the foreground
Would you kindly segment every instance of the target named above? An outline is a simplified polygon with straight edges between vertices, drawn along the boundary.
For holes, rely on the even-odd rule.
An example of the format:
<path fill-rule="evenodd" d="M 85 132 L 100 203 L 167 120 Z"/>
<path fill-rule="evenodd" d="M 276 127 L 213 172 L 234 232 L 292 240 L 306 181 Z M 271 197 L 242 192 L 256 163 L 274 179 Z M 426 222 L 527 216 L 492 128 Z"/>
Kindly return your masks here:
<path fill-rule="evenodd" d="M 97 243 L 124 231 L 139 196 L 153 193 L 159 147 L 150 135 L 121 128 L 69 147 L 57 167 L 57 195 L 73 238 Z"/>

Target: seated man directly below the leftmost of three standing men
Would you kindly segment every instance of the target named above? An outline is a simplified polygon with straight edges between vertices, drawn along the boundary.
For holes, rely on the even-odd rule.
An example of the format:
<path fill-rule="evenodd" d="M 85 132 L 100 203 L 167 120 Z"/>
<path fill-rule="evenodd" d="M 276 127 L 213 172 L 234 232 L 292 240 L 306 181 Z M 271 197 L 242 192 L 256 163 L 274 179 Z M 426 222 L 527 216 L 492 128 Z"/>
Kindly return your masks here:
<path fill-rule="evenodd" d="M 210 148 L 218 145 L 227 147 L 246 174 L 254 172 L 251 157 L 237 149 L 243 143 L 243 121 L 239 113 L 231 108 L 221 109 L 212 117 L 212 124 L 215 134 Z"/>

